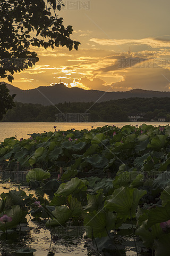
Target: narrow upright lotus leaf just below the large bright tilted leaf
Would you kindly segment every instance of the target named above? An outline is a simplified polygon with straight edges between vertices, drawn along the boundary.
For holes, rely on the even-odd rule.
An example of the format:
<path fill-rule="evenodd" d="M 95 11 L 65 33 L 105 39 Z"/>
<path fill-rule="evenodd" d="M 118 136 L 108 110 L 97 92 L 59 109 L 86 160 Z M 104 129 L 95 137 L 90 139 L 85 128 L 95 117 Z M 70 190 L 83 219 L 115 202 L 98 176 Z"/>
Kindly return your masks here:
<path fill-rule="evenodd" d="M 71 210 L 72 216 L 80 216 L 82 213 L 82 206 L 81 203 L 78 201 L 77 198 L 73 197 L 72 195 L 69 195 L 67 197 L 67 203 L 69 205 L 69 208 Z"/>

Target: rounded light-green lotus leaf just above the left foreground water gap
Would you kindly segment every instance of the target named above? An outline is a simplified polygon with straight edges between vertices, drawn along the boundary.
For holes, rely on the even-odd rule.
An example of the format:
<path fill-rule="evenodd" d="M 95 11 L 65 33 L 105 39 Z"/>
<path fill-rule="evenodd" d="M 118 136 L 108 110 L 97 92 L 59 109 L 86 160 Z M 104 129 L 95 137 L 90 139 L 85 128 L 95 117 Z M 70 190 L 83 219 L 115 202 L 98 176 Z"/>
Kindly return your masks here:
<path fill-rule="evenodd" d="M 49 177 L 50 177 L 49 172 L 46 172 L 43 169 L 35 168 L 27 173 L 26 179 L 27 179 L 27 182 L 29 182 L 31 180 L 40 181 L 43 179 L 48 179 Z"/>

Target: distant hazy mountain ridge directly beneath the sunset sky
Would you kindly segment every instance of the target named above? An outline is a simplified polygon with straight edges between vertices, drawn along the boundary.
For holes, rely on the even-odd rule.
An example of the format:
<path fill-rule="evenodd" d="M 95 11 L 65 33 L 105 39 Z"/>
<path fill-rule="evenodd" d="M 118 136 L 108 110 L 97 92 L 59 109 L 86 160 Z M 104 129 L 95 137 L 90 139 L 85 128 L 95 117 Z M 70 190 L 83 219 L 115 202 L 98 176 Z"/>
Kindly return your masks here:
<path fill-rule="evenodd" d="M 152 98 L 170 97 L 170 92 L 147 91 L 134 89 L 127 92 L 104 92 L 98 90 L 83 90 L 78 87 L 68 88 L 64 84 L 53 86 L 40 86 L 37 89 L 20 90 L 11 84 L 6 84 L 10 94 L 16 94 L 15 101 L 49 106 L 52 103 L 66 102 L 103 102 L 116 99 L 128 98 Z"/>

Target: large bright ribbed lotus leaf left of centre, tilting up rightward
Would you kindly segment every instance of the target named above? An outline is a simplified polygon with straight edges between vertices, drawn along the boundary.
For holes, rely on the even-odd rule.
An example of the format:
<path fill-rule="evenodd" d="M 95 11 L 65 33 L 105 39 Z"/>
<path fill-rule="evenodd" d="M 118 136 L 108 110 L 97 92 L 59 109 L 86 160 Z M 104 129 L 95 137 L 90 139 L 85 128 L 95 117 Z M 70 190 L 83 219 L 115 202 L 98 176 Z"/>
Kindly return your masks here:
<path fill-rule="evenodd" d="M 58 196 L 68 196 L 70 194 L 78 194 L 80 191 L 87 190 L 87 180 L 80 180 L 79 178 L 72 178 L 70 181 L 66 183 L 62 183 L 56 194 Z"/>

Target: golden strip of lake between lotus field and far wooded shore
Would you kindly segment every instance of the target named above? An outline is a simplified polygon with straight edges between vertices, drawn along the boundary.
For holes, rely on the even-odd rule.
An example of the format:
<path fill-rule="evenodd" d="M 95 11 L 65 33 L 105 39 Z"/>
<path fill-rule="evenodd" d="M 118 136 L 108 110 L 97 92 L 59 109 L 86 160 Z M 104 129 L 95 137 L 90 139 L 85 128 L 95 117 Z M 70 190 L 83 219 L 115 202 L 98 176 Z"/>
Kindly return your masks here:
<path fill-rule="evenodd" d="M 146 124 L 151 125 L 168 125 L 169 123 L 166 122 L 145 122 Z M 20 140 L 20 138 L 28 139 L 30 136 L 28 134 L 31 133 L 42 133 L 44 131 L 54 131 L 53 126 L 57 126 L 57 130 L 63 130 L 67 131 L 72 128 L 75 130 L 82 130 L 84 128 L 91 130 L 91 126 L 94 126 L 94 128 L 102 127 L 105 125 L 115 125 L 118 127 L 122 127 L 124 125 L 141 125 L 143 122 L 122 122 L 122 123 L 0 123 L 0 142 L 4 141 L 5 138 L 14 137 L 16 135 L 16 138 Z"/>

